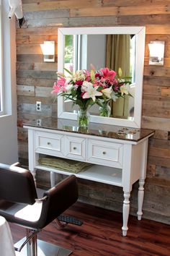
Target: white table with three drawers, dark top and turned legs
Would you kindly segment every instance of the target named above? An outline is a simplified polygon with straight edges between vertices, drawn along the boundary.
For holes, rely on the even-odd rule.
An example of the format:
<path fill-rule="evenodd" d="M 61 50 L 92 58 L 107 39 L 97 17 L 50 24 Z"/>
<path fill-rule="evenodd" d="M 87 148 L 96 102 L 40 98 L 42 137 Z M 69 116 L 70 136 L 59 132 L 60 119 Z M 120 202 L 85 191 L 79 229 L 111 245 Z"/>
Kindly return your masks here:
<path fill-rule="evenodd" d="M 122 234 L 128 231 L 130 192 L 132 185 L 139 180 L 138 220 L 142 216 L 143 185 L 146 179 L 148 138 L 153 135 L 150 129 L 134 129 L 106 124 L 89 124 L 88 129 L 80 129 L 77 122 L 68 119 L 42 119 L 24 124 L 28 129 L 29 169 L 35 176 L 36 169 L 50 171 L 51 185 L 55 174 L 70 175 L 50 166 L 40 165 L 41 155 L 93 163 L 77 177 L 122 187 L 123 226 Z"/>

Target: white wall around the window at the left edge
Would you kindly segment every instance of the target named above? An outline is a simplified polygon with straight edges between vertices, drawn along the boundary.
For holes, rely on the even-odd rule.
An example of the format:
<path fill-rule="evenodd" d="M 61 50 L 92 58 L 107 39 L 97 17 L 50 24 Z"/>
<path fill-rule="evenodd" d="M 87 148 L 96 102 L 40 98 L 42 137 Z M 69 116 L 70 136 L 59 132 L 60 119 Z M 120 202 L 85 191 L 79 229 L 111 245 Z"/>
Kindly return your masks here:
<path fill-rule="evenodd" d="M 4 86 L 6 115 L 0 116 L 0 162 L 18 161 L 15 20 L 9 20 L 9 4 L 3 1 Z"/>

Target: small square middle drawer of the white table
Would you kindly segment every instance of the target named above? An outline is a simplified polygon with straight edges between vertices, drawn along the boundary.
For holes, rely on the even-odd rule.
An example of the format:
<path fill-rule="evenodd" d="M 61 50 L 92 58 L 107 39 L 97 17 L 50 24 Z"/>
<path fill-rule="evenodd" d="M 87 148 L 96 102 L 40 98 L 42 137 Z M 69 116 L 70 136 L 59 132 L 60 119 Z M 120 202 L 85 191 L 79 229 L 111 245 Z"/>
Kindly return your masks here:
<path fill-rule="evenodd" d="M 86 139 L 66 136 L 66 158 L 86 160 Z"/>

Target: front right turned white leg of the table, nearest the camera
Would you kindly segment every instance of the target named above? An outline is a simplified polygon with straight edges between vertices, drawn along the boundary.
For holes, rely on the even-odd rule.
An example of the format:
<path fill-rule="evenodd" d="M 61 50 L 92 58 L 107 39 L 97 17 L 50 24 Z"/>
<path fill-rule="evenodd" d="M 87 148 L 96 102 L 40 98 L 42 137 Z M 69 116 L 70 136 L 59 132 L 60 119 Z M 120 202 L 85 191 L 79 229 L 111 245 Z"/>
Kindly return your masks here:
<path fill-rule="evenodd" d="M 129 218 L 129 210 L 130 210 L 130 192 L 124 192 L 123 207 L 122 207 L 122 235 L 126 236 L 128 231 L 128 218 Z"/>

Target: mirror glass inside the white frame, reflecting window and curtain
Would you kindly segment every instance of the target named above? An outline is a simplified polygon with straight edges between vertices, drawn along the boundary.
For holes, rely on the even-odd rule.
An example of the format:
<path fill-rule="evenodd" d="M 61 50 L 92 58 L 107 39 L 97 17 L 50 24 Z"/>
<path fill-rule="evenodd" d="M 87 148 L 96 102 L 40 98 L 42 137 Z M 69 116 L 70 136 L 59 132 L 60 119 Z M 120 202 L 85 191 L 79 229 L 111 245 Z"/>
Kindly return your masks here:
<path fill-rule="evenodd" d="M 110 117 L 121 119 L 134 118 L 135 98 L 135 48 L 136 35 L 65 35 L 64 67 L 73 71 L 91 69 L 91 64 L 99 70 L 103 67 L 122 69 L 122 77 L 131 77 L 130 95 L 109 103 Z M 72 101 L 65 100 L 65 111 L 77 113 L 78 107 Z M 90 114 L 98 116 L 99 106 L 89 109 Z"/>

